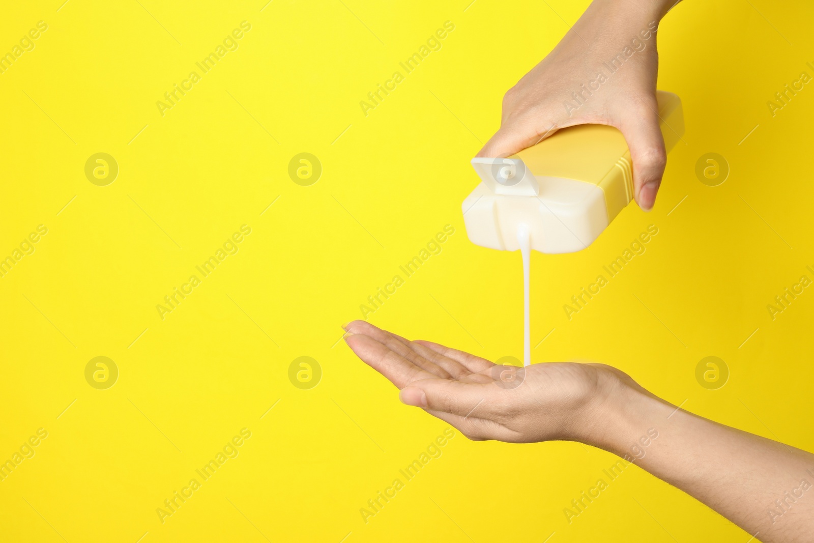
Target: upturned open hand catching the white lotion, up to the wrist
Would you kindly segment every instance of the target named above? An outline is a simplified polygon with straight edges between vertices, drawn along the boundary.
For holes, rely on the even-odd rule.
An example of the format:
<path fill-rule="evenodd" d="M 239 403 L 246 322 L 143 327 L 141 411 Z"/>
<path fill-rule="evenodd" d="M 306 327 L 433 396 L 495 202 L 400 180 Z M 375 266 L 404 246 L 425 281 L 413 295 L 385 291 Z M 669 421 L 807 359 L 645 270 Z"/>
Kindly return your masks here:
<path fill-rule="evenodd" d="M 407 405 L 452 424 L 470 440 L 531 443 L 602 440 L 599 414 L 620 388 L 637 387 L 602 364 L 499 366 L 429 341 L 409 341 L 365 321 L 344 326 L 361 360 L 401 389 Z"/>

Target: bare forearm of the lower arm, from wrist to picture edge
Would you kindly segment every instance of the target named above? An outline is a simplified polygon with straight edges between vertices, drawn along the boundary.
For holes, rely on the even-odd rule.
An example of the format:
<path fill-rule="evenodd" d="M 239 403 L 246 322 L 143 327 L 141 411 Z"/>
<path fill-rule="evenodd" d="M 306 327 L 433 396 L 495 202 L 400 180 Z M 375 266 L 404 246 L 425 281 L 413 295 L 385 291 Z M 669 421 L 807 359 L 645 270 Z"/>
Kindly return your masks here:
<path fill-rule="evenodd" d="M 608 423 L 597 440 L 603 449 L 681 488 L 759 541 L 812 541 L 814 455 L 637 390 L 613 403 L 603 408 Z"/>

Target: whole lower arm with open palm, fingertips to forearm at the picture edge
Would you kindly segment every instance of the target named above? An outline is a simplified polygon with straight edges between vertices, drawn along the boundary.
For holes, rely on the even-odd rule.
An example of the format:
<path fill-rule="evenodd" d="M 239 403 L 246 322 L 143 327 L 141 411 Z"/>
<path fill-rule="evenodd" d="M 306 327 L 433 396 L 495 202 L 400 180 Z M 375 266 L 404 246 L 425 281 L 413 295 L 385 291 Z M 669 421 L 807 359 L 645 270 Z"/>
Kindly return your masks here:
<path fill-rule="evenodd" d="M 472 440 L 572 440 L 635 462 L 759 541 L 814 540 L 814 455 L 698 417 L 602 364 L 497 366 L 364 321 L 353 352 Z"/>

